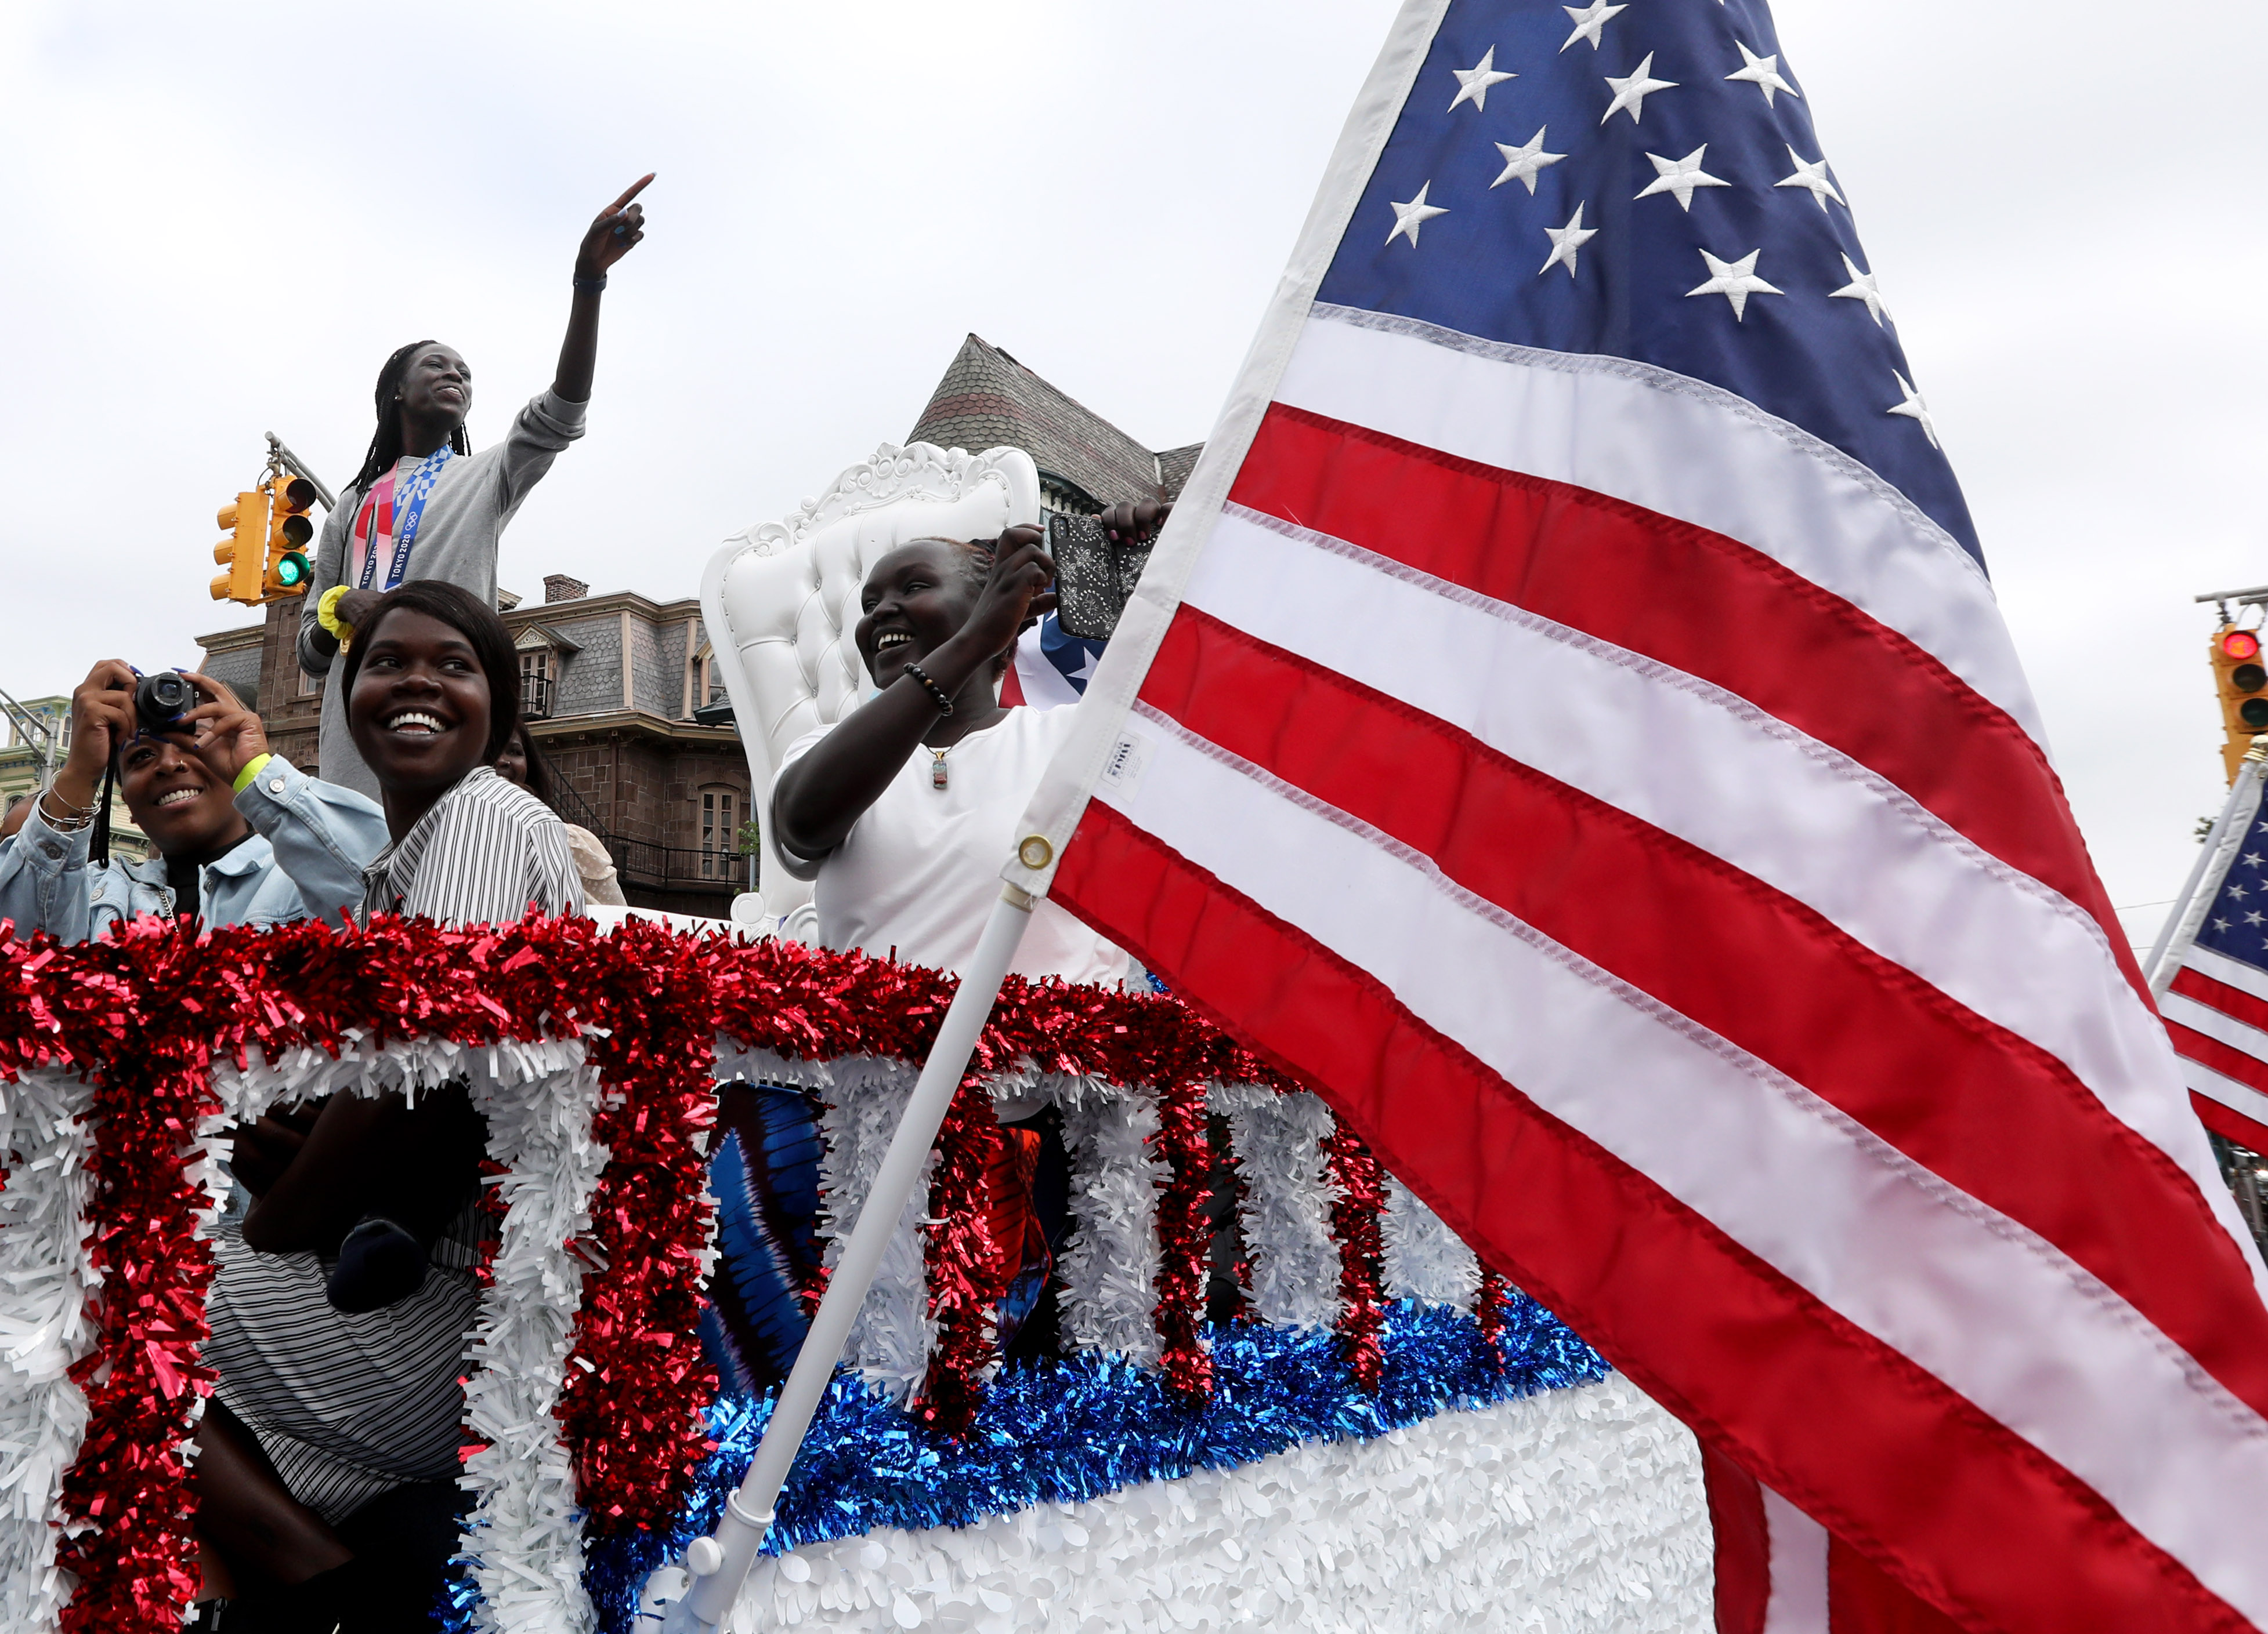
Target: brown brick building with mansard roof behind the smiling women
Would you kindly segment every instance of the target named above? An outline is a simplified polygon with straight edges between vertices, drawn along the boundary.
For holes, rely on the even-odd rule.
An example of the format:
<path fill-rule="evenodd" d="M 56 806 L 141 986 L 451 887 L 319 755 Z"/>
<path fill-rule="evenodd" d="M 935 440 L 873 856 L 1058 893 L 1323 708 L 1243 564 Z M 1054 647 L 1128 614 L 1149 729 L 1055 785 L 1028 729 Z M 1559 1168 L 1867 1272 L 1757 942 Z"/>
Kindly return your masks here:
<path fill-rule="evenodd" d="M 694 598 L 592 596 L 553 573 L 544 601 L 501 594 L 519 650 L 522 707 L 560 782 L 560 816 L 606 841 L 633 907 L 723 918 L 748 863 L 748 761 L 730 725 L 694 709 L 723 698 Z M 299 669 L 299 603 L 243 630 L 197 637 L 206 673 L 259 698 L 277 755 L 322 775 L 320 680 Z"/>

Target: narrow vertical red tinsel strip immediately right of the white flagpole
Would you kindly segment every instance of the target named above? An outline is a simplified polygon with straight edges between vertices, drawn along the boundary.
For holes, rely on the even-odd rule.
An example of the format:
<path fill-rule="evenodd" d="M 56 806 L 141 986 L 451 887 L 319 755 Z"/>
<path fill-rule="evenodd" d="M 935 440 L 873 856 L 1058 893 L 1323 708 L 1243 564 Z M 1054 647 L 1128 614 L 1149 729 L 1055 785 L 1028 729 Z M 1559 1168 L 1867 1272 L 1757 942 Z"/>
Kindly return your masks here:
<path fill-rule="evenodd" d="M 937 1129 L 930 1219 L 923 1226 L 930 1317 L 937 1344 L 921 1385 L 921 1416 L 948 1435 L 968 1428 L 984 1385 L 978 1373 L 993 1351 L 993 1305 L 1002 1294 L 1000 1249 L 991 1235 L 989 1176 L 1000 1156 L 1000 1122 L 991 1090 L 964 1076 Z"/>

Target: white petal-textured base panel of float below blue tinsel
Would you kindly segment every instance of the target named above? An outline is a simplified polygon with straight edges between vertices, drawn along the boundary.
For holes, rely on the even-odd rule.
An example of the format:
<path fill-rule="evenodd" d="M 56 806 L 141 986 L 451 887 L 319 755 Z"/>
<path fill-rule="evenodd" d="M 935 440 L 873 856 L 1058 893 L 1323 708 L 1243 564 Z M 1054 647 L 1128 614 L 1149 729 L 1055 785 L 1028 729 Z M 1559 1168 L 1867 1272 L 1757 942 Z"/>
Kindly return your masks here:
<path fill-rule="evenodd" d="M 1093 1503 L 760 1559 L 726 1629 L 1694 1634 L 1710 1600 L 1699 1448 L 1610 1378 Z"/>

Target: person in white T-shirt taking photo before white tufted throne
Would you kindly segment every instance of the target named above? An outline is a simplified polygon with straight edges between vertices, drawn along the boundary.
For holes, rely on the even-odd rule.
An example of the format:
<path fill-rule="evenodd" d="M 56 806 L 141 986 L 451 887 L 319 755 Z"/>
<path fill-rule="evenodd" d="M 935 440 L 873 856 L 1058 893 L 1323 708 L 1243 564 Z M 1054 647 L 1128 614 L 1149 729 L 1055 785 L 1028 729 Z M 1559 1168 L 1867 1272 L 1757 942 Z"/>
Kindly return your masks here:
<path fill-rule="evenodd" d="M 975 954 L 1016 818 L 1077 714 L 996 696 L 1016 632 L 1055 605 L 1052 578 L 1039 528 L 914 539 L 873 564 L 855 641 L 880 691 L 789 746 L 764 825 L 780 866 L 816 882 L 828 947 L 941 970 Z M 1127 956 L 1041 902 L 1012 968 L 1109 984 Z"/>

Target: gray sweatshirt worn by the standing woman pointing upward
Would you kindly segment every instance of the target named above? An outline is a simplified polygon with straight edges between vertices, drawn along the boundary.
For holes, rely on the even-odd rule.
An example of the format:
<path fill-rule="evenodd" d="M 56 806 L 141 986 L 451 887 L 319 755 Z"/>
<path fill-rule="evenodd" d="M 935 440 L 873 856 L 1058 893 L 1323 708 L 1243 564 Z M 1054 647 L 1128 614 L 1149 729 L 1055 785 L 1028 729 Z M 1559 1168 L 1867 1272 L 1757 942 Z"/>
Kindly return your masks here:
<path fill-rule="evenodd" d="M 569 403 L 565 397 L 544 392 L 513 419 L 510 433 L 492 449 L 481 449 L 469 458 L 454 458 L 440 467 L 433 492 L 426 496 L 424 519 L 417 524 L 417 544 L 411 551 L 401 578 L 442 578 L 469 589 L 490 607 L 497 605 L 497 537 L 513 519 L 519 503 L 535 487 L 535 478 L 551 469 L 560 449 L 583 435 L 583 410 L 587 403 Z M 420 460 L 404 456 L 395 465 L 395 483 L 408 480 Z M 338 496 L 338 508 L 322 524 L 322 542 L 315 546 L 315 573 L 306 596 L 299 601 L 299 666 L 308 675 L 327 675 L 331 657 L 315 648 L 322 625 L 315 623 L 315 607 L 333 585 L 358 585 L 361 562 L 347 548 L 354 517 L 363 508 L 363 490 L 349 487 Z M 395 512 L 399 526 L 399 512 Z M 386 587 L 386 569 L 395 558 L 395 542 L 376 542 L 379 564 L 370 576 L 372 589 Z M 347 737 L 347 698 L 340 687 L 322 689 L 322 777 L 358 793 L 379 798 L 379 780 L 363 766 L 354 739 Z"/>

